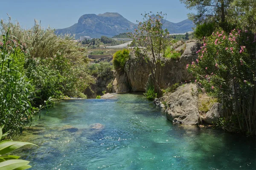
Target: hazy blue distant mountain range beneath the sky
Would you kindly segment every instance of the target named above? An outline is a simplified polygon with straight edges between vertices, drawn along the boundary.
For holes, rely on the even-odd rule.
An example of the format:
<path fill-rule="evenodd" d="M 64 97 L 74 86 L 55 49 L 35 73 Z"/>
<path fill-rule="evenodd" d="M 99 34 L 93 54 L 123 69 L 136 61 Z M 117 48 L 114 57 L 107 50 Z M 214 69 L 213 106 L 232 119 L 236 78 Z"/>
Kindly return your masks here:
<path fill-rule="evenodd" d="M 79 39 L 80 36 L 90 36 L 92 38 L 113 37 L 124 32 L 132 32 L 137 27 L 137 24 L 125 19 L 122 15 L 115 12 L 106 12 L 104 14 L 84 14 L 78 23 L 64 29 L 56 29 L 57 35 L 71 34 L 76 35 L 75 38 Z M 167 28 L 172 33 L 185 33 L 193 31 L 193 22 L 189 19 L 183 20 L 179 23 L 172 23 L 168 20 L 164 21 L 164 28 Z"/>

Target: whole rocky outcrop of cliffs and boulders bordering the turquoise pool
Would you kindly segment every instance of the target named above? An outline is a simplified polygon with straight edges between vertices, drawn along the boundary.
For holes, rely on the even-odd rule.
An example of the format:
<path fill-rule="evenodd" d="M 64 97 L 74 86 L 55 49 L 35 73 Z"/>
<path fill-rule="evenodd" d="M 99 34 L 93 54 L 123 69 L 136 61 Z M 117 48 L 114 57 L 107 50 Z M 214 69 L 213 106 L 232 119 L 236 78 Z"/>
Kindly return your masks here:
<path fill-rule="evenodd" d="M 198 109 L 198 93 L 201 88 L 197 84 L 190 83 L 194 78 L 186 69 L 188 63 L 196 60 L 196 52 L 200 45 L 196 40 L 178 41 L 174 45 L 175 50 L 183 51 L 183 54 L 179 59 L 166 58 L 164 66 L 160 70 L 161 89 L 170 88 L 175 84 L 183 84 L 174 92 L 166 92 L 163 97 L 154 100 L 155 104 L 166 109 L 166 118 L 173 123 L 199 125 L 204 122 L 212 124 L 212 121 L 220 117 L 221 104 L 213 104 L 207 113 Z M 142 57 L 136 57 L 134 52 L 131 52 L 124 69 L 115 70 L 106 78 L 99 78 L 97 84 L 91 86 L 94 93 L 87 91 L 87 95 L 95 98 L 96 94 L 99 95 L 104 90 L 113 93 L 145 92 L 151 74 L 148 64 L 150 63 L 147 63 Z M 111 88 L 107 87 L 109 83 L 112 83 Z"/>

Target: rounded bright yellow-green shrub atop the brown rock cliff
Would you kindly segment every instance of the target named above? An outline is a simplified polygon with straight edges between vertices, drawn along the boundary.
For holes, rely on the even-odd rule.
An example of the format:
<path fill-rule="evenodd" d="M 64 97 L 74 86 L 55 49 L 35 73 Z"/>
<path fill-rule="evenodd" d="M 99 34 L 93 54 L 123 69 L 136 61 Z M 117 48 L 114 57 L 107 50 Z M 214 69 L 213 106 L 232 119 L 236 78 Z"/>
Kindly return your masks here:
<path fill-rule="evenodd" d="M 116 70 L 125 68 L 125 63 L 130 58 L 129 53 L 130 51 L 128 49 L 123 49 L 114 53 L 113 66 Z"/>

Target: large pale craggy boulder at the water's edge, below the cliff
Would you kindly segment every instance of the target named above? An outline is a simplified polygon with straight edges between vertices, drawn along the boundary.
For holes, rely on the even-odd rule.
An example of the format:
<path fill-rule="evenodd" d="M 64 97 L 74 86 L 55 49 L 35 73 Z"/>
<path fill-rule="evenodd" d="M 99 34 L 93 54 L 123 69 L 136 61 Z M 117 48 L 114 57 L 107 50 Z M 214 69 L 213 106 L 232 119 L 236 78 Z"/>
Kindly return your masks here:
<path fill-rule="evenodd" d="M 160 98 L 160 101 L 165 101 L 167 105 L 166 118 L 179 124 L 200 124 L 198 88 L 196 84 L 185 84 L 178 87 L 175 92 L 167 93 Z"/>

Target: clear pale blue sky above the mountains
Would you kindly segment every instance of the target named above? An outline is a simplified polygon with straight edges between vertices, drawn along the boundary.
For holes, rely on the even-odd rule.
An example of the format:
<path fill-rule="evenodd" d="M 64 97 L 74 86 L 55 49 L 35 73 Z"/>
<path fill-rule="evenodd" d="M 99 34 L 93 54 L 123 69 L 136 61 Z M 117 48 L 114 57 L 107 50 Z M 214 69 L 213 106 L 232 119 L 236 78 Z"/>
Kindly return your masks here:
<path fill-rule="evenodd" d="M 17 20 L 21 26 L 30 28 L 34 19 L 41 20 L 44 28 L 59 29 L 77 23 L 83 14 L 118 12 L 133 23 L 141 20 L 141 13 L 163 12 L 166 19 L 177 23 L 187 19 L 186 9 L 179 0 L 0 0 L 0 18 Z"/>

